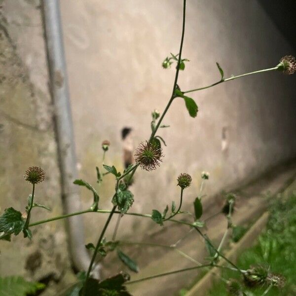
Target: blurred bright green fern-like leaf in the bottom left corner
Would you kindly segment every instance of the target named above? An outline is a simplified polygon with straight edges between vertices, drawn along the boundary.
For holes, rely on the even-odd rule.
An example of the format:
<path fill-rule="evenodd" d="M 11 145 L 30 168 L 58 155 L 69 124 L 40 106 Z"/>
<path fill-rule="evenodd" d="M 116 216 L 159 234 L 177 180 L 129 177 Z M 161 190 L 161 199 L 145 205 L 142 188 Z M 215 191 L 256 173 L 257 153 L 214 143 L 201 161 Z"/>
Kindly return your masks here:
<path fill-rule="evenodd" d="M 1 296 L 26 296 L 27 294 L 35 294 L 38 290 L 44 288 L 45 285 L 27 282 L 21 276 L 0 277 Z"/>

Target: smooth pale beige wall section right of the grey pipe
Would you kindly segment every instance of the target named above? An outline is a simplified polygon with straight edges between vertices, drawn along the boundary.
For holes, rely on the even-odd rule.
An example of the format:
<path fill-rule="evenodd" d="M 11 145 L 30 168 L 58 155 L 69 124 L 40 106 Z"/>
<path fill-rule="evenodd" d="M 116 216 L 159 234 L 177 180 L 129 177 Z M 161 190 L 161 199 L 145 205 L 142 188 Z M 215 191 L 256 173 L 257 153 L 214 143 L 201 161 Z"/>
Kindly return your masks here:
<path fill-rule="evenodd" d="M 188 0 L 182 90 L 219 79 L 218 61 L 226 76 L 274 67 L 293 53 L 256 0 Z M 101 163 L 100 143 L 111 141 L 106 163 L 122 166 L 120 130 L 134 129 L 134 144 L 148 138 L 150 111 L 162 111 L 174 80 L 174 67 L 161 62 L 179 49 L 180 0 L 61 0 L 64 38 L 80 176 L 95 184 L 95 166 Z M 165 158 L 155 172 L 139 170 L 132 190 L 133 211 L 163 209 L 178 200 L 176 178 L 193 177 L 185 192 L 191 205 L 200 186 L 200 173 L 210 172 L 206 193 L 256 178 L 267 168 L 296 153 L 295 77 L 267 73 L 230 81 L 193 93 L 199 106 L 195 119 L 182 99 L 176 99 L 159 131 L 165 139 Z M 222 134 L 225 146 L 222 150 Z M 111 207 L 113 178 L 100 188 L 101 207 Z M 85 206 L 91 194 L 83 190 Z M 213 201 L 214 202 L 214 201 Z M 100 224 L 94 215 L 85 223 Z M 124 218 L 121 235 L 140 237 L 155 229 L 152 222 Z M 152 229 L 152 230 L 151 230 Z M 93 230 L 87 232 L 94 240 Z M 138 236 L 138 239 L 139 239 Z"/>

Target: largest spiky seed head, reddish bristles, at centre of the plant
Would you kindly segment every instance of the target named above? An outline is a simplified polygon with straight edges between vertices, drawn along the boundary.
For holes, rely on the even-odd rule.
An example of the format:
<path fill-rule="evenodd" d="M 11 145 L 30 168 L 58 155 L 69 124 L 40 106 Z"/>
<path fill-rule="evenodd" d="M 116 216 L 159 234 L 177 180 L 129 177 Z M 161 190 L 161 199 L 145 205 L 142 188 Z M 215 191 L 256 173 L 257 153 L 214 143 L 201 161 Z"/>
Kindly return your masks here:
<path fill-rule="evenodd" d="M 146 171 L 155 170 L 160 166 L 162 150 L 156 142 L 142 142 L 135 150 L 135 161 Z"/>

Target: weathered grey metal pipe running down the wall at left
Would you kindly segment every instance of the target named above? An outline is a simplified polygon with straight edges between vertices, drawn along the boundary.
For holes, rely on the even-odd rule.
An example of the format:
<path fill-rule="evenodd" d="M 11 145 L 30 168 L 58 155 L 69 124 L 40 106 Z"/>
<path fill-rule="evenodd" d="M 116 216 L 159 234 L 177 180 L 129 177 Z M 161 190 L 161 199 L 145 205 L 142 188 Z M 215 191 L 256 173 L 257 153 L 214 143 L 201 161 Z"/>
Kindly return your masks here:
<path fill-rule="evenodd" d="M 64 212 L 68 214 L 80 211 L 81 203 L 78 186 L 73 184 L 74 179 L 77 179 L 77 168 L 59 0 L 42 0 L 42 8 L 50 92 L 54 105 L 62 201 Z M 67 230 L 74 268 L 87 270 L 90 257 L 84 247 L 82 217 L 69 218 Z"/>

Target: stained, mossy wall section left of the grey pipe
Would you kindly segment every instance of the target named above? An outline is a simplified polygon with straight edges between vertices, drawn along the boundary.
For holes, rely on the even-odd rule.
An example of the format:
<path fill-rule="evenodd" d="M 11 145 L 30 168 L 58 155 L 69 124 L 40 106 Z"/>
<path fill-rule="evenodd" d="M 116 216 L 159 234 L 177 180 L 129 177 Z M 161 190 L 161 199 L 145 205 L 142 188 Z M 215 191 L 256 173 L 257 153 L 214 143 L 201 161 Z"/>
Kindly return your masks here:
<path fill-rule="evenodd" d="M 37 185 L 35 198 L 52 212 L 33 209 L 37 221 L 62 213 L 40 10 L 38 1 L 1 2 L 0 212 L 11 206 L 25 212 L 32 185 L 24 172 L 41 166 L 45 181 Z M 0 241 L 0 276 L 49 281 L 44 295 L 56 295 L 55 282 L 65 285 L 64 274 L 71 270 L 64 223 L 32 227 L 32 232 L 32 241 L 22 234 Z"/>

